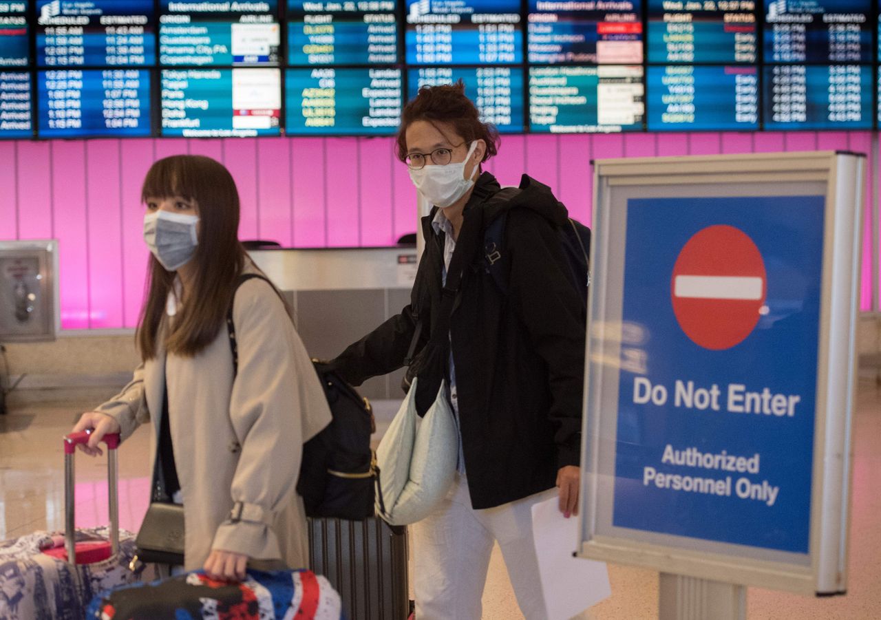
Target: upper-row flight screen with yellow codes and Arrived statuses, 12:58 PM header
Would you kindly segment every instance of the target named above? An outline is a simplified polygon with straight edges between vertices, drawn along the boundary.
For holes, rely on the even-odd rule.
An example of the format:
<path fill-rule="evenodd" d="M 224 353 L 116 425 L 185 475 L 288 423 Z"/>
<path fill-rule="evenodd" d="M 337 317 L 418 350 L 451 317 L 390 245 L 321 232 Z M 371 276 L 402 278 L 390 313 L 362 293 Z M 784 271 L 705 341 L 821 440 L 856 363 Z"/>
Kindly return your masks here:
<path fill-rule="evenodd" d="M 286 21 L 292 66 L 398 63 L 396 0 L 288 0 Z"/>

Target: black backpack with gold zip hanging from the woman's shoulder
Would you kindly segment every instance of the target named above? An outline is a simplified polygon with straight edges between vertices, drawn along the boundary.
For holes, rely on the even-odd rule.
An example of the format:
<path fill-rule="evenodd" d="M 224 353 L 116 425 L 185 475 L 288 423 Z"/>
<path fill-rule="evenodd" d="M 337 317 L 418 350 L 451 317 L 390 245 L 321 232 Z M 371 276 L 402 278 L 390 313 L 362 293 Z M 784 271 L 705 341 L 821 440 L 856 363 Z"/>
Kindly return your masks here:
<path fill-rule="evenodd" d="M 272 285 L 266 277 L 245 274 L 239 278 L 236 290 L 253 277 Z M 232 302 L 226 312 L 226 328 L 235 373 L 239 368 L 239 351 Z M 309 517 L 348 520 L 372 517 L 379 468 L 376 467 L 376 454 L 370 448 L 370 435 L 376 430 L 370 402 L 337 373 L 329 371 L 315 359 L 312 361 L 322 381 L 332 419 L 322 432 L 303 444 L 297 492 L 303 497 Z"/>

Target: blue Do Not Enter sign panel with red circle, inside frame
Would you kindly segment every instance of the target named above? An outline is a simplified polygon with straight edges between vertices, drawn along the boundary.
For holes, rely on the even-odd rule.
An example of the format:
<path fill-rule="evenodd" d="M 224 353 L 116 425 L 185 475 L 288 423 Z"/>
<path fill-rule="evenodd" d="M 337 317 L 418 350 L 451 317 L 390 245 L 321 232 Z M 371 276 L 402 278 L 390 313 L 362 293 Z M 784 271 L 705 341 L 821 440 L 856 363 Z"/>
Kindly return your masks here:
<path fill-rule="evenodd" d="M 614 526 L 809 552 L 824 201 L 628 201 Z"/>

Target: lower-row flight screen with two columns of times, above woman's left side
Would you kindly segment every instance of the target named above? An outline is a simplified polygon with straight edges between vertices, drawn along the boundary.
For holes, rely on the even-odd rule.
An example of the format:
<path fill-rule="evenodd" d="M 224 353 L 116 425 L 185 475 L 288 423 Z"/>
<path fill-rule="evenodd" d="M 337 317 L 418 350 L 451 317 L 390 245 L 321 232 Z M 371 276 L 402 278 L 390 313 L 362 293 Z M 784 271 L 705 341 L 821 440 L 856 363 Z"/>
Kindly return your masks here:
<path fill-rule="evenodd" d="M 40 137 L 151 135 L 149 70 L 38 71 L 37 100 Z"/>

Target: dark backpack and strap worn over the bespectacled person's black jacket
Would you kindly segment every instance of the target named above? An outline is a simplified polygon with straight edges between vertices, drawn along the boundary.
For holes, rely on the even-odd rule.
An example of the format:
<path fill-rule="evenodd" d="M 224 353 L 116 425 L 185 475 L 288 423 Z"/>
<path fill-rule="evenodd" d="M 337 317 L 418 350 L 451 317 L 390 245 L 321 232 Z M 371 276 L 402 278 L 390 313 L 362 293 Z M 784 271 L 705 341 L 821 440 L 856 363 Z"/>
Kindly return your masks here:
<path fill-rule="evenodd" d="M 522 188 L 529 184 L 541 185 L 538 181 L 523 175 L 521 187 L 502 188 L 492 196 L 489 196 L 487 204 L 496 201 L 507 202 L 518 196 Z M 502 293 L 507 295 L 507 274 L 502 263 L 505 261 L 504 235 L 507 211 L 502 211 L 498 217 L 486 225 L 484 232 L 484 263 L 485 269 L 492 275 L 492 279 L 499 286 Z M 590 229 L 576 219 L 569 218 L 568 225 L 562 225 L 557 229 L 559 245 L 566 256 L 567 275 L 572 285 L 581 295 L 581 300 L 587 307 L 587 294 L 590 285 Z"/>

